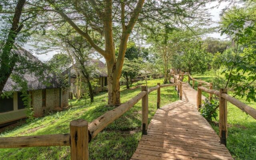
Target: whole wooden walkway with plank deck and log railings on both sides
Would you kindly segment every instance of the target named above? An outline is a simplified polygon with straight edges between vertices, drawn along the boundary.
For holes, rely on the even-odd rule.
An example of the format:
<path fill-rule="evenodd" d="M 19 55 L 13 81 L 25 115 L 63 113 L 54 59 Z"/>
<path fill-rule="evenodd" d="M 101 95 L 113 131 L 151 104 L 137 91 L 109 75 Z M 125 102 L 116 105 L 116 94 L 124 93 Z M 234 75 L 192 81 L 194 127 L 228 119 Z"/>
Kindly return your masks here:
<path fill-rule="evenodd" d="M 131 160 L 233 160 L 227 150 L 228 136 L 227 102 L 240 108 L 256 119 L 256 109 L 227 94 L 227 89 L 213 90 L 212 83 L 201 80 L 198 91 L 182 78 L 174 75 L 173 84 L 157 84 L 148 88 L 141 86 L 141 92 L 124 104 L 102 114 L 92 122 L 73 120 L 70 133 L 22 137 L 0 137 L 0 148 L 22 148 L 36 146 L 70 146 L 71 160 L 88 160 L 88 143 L 108 124 L 130 110 L 142 100 L 142 138 Z M 188 75 L 188 80 L 196 79 Z M 202 83 L 206 86 L 202 86 Z M 175 86 L 180 100 L 160 108 L 160 88 Z M 209 87 L 206 88 L 206 87 Z M 157 90 L 157 111 L 148 125 L 148 94 Z M 219 136 L 198 112 L 202 106 L 202 91 L 219 97 Z"/>

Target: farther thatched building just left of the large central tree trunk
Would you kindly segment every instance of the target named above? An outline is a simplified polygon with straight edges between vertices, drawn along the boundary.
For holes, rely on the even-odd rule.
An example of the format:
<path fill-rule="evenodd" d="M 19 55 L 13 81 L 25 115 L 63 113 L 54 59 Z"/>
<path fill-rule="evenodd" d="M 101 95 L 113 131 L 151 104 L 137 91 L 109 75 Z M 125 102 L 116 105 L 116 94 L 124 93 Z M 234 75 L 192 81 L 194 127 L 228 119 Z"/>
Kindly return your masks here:
<path fill-rule="evenodd" d="M 74 64 L 77 65 L 77 64 Z M 98 78 L 98 86 L 94 88 L 94 93 L 99 93 L 100 91 L 108 90 L 108 72 L 106 65 L 100 61 L 91 59 L 88 62 L 85 62 L 84 65 L 95 66 L 95 72 L 92 73 L 92 77 Z M 63 74 L 68 75 L 70 70 L 70 93 L 77 94 L 76 90 L 76 70 L 74 66 L 71 66 L 68 70 L 64 71 Z M 80 71 L 78 68 L 78 75 L 80 75 Z M 83 78 L 82 78 L 83 80 Z M 85 81 L 85 80 L 84 80 Z"/>

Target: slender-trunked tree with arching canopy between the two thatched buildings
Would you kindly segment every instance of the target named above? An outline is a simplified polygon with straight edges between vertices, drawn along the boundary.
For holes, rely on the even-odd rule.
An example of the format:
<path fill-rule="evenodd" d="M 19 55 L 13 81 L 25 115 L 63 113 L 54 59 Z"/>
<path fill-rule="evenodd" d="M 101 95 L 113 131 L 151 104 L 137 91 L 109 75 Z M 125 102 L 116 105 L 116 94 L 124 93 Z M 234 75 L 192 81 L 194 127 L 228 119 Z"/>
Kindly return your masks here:
<path fill-rule="evenodd" d="M 43 40 L 42 40 L 43 37 Z M 58 28 L 52 26 L 51 30 L 44 32 L 44 35 L 36 34 L 34 40 L 39 43 L 33 45 L 38 48 L 38 54 L 47 53 L 52 50 L 59 50 L 68 55 L 68 58 L 72 62 L 72 66 L 76 73 L 76 97 L 80 99 L 82 76 L 86 81 L 86 87 L 88 87 L 90 100 L 94 100 L 93 85 L 91 84 L 92 76 L 95 71 L 95 64 L 90 64 L 90 56 L 95 52 L 87 41 L 80 36 L 72 27 L 64 24 Z M 68 68 L 68 64 L 66 64 Z"/>

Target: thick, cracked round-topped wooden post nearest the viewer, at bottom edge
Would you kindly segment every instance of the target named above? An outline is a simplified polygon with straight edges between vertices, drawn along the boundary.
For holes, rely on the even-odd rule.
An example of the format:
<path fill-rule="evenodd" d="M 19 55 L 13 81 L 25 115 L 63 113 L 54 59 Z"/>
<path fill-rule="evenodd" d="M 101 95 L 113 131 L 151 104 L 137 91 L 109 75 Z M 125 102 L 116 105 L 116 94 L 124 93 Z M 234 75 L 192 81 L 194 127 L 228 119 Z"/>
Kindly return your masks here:
<path fill-rule="evenodd" d="M 70 122 L 70 154 L 71 160 L 88 160 L 88 122 L 78 119 Z"/>

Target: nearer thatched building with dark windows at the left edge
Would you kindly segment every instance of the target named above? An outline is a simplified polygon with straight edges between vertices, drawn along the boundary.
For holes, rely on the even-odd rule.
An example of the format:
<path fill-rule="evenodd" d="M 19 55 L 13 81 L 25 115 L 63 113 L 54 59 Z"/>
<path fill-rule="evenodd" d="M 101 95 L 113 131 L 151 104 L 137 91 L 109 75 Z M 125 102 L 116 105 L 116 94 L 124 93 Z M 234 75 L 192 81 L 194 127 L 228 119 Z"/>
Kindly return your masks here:
<path fill-rule="evenodd" d="M 31 61 L 39 60 L 25 49 L 18 49 L 15 52 L 26 56 Z M 68 106 L 68 90 L 60 88 L 60 84 L 51 74 L 45 74 L 50 79 L 50 86 L 43 84 L 39 77 L 34 74 L 23 74 L 28 82 L 28 93 L 30 94 L 34 116 L 41 116 L 49 110 L 61 110 Z M 10 124 L 13 121 L 26 118 L 26 110 L 20 88 L 15 88 L 16 83 L 9 78 L 4 86 L 3 92 L 14 91 L 12 98 L 0 98 L 0 126 Z"/>

